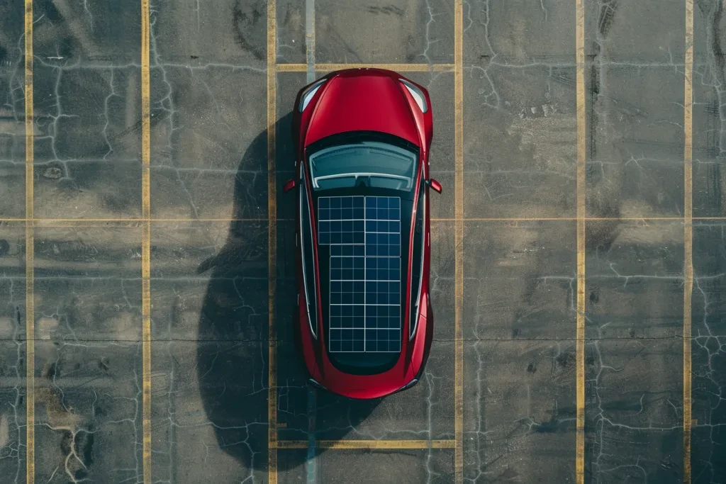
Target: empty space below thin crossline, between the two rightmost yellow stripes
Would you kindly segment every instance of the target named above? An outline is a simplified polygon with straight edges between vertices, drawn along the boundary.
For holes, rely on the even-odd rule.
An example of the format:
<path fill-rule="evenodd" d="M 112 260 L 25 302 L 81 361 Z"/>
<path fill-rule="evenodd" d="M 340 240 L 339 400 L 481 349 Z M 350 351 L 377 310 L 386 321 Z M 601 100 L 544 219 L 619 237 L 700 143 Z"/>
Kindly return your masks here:
<path fill-rule="evenodd" d="M 592 474 L 679 480 L 682 222 L 594 221 L 589 233 L 585 422 Z"/>

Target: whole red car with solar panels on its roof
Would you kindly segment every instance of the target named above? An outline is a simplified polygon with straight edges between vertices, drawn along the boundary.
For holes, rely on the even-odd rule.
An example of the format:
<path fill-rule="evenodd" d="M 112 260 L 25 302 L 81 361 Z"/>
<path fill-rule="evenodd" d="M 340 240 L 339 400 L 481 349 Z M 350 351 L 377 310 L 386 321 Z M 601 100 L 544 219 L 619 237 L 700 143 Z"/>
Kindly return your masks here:
<path fill-rule="evenodd" d="M 295 339 L 317 387 L 378 398 L 423 374 L 432 134 L 428 92 L 389 70 L 330 73 L 295 99 Z"/>

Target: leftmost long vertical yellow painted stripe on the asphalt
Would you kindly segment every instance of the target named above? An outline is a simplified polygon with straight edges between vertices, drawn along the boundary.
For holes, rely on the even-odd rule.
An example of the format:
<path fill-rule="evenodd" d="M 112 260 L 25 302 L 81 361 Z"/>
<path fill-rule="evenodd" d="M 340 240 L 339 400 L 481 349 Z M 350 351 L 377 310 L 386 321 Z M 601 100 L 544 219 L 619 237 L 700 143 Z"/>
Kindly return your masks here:
<path fill-rule="evenodd" d="M 25 0 L 25 478 L 28 484 L 36 482 L 33 135 L 33 0 Z"/>

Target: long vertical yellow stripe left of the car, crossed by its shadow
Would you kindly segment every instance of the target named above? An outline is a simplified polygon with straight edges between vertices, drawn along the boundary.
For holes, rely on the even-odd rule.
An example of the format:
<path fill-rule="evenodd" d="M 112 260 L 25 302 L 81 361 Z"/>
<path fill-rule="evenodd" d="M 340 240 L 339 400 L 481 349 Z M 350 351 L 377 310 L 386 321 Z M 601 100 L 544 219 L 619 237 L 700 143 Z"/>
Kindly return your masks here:
<path fill-rule="evenodd" d="M 267 482 L 277 484 L 277 334 L 274 327 L 274 296 L 277 291 L 277 168 L 275 123 L 277 123 L 277 5 L 267 0 Z M 305 66 L 307 70 L 307 66 Z M 303 70 L 303 72 L 305 72 Z"/>

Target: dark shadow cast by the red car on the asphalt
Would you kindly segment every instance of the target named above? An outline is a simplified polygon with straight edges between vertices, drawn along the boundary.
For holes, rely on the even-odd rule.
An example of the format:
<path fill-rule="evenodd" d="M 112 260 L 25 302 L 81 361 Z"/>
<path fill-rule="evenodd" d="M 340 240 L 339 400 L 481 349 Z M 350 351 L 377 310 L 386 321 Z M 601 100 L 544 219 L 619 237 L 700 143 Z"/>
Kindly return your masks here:
<path fill-rule="evenodd" d="M 311 390 L 293 342 L 295 286 L 295 194 L 282 184 L 293 176 L 290 139 L 292 113 L 276 125 L 277 134 L 277 290 L 274 330 L 277 335 L 277 423 L 279 440 L 356 438 L 355 429 L 380 399 L 356 401 Z M 242 221 L 250 203 L 251 165 L 266 167 L 267 130 L 246 150 L 234 186 L 234 221 L 224 247 L 197 268 L 209 282 L 200 312 L 197 378 L 203 407 L 219 447 L 246 469 L 264 471 L 268 463 L 268 246 L 265 221 Z M 266 173 L 258 176 L 266 179 Z M 253 186 L 264 190 L 264 181 Z M 246 207 L 246 209 L 245 209 Z M 310 394 L 310 392 L 314 392 Z M 311 399 L 311 397 L 313 397 Z M 311 402 L 317 410 L 309 412 Z M 313 407 L 313 408 L 316 408 Z M 310 419 L 309 417 L 315 417 Z M 310 423 L 316 422 L 314 432 Z M 344 422 L 343 425 L 340 422 Z M 319 454 L 318 448 L 315 454 Z M 280 471 L 295 469 L 309 458 L 305 449 L 278 451 Z"/>

